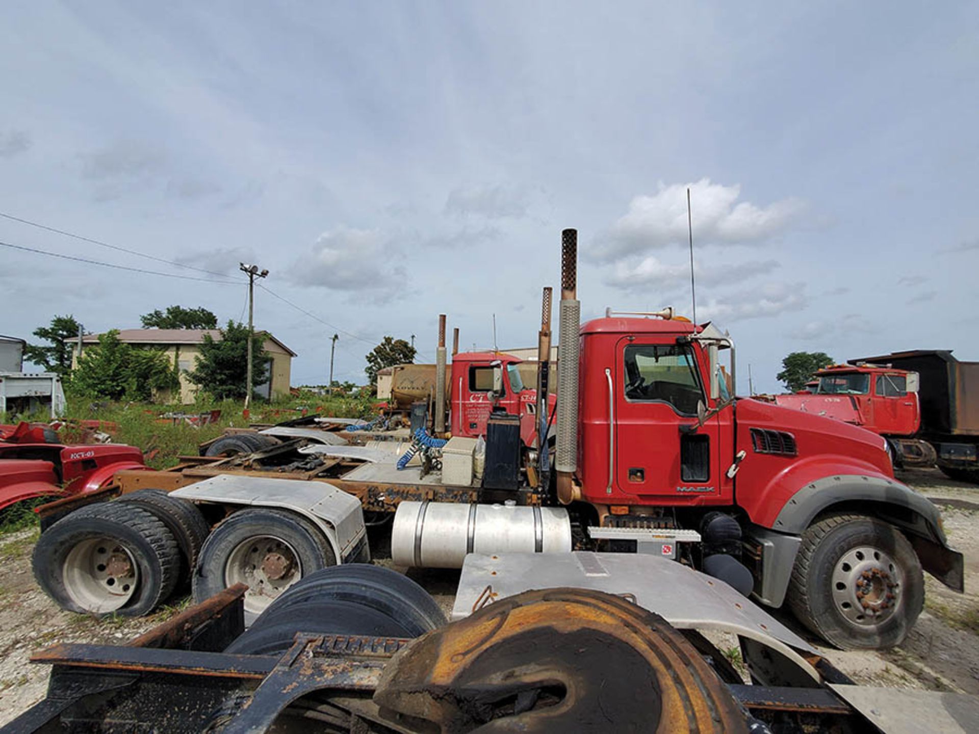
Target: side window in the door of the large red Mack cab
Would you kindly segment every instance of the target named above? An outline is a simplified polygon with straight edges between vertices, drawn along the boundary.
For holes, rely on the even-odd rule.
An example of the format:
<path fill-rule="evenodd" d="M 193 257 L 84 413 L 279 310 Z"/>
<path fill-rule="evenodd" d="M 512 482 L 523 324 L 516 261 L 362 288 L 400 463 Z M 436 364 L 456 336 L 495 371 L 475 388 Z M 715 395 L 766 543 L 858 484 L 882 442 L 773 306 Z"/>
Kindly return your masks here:
<path fill-rule="evenodd" d="M 665 402 L 680 415 L 696 415 L 704 391 L 688 346 L 630 344 L 625 349 L 626 399 Z"/>

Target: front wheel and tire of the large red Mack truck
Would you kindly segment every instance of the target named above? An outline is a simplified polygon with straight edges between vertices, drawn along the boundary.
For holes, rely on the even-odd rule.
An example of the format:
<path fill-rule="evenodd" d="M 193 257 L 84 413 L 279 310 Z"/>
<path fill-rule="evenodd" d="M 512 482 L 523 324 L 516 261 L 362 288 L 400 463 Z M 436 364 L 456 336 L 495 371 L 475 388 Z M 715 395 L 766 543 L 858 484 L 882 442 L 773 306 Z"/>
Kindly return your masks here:
<path fill-rule="evenodd" d="M 842 650 L 887 648 L 921 613 L 924 577 L 899 529 L 833 515 L 803 533 L 787 599 L 797 619 Z"/>

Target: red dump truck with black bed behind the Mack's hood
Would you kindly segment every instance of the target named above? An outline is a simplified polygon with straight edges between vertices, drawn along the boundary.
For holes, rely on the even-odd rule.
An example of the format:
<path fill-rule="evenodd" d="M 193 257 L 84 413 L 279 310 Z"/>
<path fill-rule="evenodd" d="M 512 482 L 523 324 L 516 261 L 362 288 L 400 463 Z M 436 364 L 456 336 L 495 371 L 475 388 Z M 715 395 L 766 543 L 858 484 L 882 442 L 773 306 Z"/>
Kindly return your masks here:
<path fill-rule="evenodd" d="M 898 466 L 935 466 L 979 483 L 979 362 L 951 349 L 852 359 L 816 373 L 816 389 L 774 395 L 778 405 L 885 436 Z"/>

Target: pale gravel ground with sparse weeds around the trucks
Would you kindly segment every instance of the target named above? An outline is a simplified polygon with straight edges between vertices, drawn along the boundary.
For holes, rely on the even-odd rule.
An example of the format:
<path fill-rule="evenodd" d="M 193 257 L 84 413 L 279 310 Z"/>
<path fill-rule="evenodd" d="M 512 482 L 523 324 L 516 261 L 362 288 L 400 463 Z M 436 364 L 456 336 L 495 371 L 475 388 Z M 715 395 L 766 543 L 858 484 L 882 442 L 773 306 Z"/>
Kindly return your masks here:
<path fill-rule="evenodd" d="M 979 695 L 979 487 L 953 482 L 934 470 L 904 473 L 904 482 L 940 505 L 951 543 L 965 554 L 966 593 L 956 594 L 926 575 L 924 612 L 899 648 L 823 654 L 860 683 Z M 36 531 L 0 536 L 0 725 L 44 697 L 48 668 L 30 665 L 31 653 L 56 642 L 120 644 L 183 608 L 187 599 L 144 619 L 92 619 L 58 609 L 34 583 L 30 553 Z M 446 613 L 458 572 L 415 571 Z M 780 616 L 790 626 L 799 625 Z M 814 644 L 816 640 L 804 633 Z"/>

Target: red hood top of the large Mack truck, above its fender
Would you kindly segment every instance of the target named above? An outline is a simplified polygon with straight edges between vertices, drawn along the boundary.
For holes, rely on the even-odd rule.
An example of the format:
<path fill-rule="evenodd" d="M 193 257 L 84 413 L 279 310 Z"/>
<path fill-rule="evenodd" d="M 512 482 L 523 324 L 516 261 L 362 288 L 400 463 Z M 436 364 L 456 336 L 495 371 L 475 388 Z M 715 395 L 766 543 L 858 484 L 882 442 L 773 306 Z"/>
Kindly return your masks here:
<path fill-rule="evenodd" d="M 804 395 L 800 395 L 804 397 Z M 752 428 L 784 431 L 796 439 L 799 459 L 833 455 L 870 465 L 886 477 L 894 476 L 886 441 L 865 429 L 795 408 L 754 398 L 737 401 L 737 448 L 753 452 Z"/>

